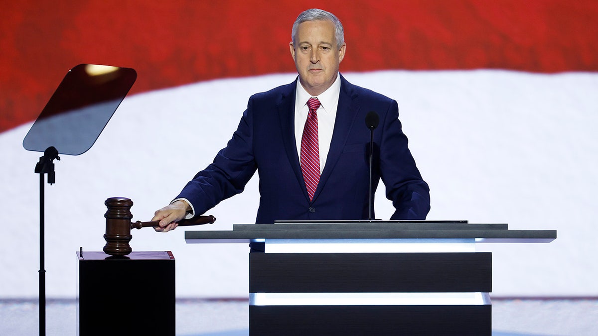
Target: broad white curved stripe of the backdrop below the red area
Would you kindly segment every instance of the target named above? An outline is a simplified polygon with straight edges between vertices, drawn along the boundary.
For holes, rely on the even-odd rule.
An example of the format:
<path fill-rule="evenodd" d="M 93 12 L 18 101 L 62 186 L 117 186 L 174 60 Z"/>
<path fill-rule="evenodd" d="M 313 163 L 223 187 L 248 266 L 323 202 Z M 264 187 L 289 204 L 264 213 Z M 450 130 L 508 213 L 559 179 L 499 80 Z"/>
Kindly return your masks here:
<path fill-rule="evenodd" d="M 493 295 L 598 295 L 598 74 L 386 71 L 344 74 L 396 99 L 409 146 L 431 187 L 428 219 L 556 229 L 553 243 L 478 246 L 493 252 Z M 230 139 L 248 97 L 296 74 L 210 81 L 127 97 L 89 152 L 63 155 L 46 186 L 48 297 L 74 297 L 75 252 L 101 251 L 106 198 L 130 197 L 148 221 Z M 206 101 L 215 105 L 208 111 Z M 0 297 L 36 297 L 38 152 L 30 125 L 0 134 Z M 365 127 L 365 126 L 364 126 Z M 208 213 L 229 230 L 255 220 L 257 179 Z M 377 217 L 392 205 L 381 185 Z M 184 242 L 185 228 L 133 231 L 134 251 L 173 252 L 179 297 L 245 297 L 248 247 Z"/>

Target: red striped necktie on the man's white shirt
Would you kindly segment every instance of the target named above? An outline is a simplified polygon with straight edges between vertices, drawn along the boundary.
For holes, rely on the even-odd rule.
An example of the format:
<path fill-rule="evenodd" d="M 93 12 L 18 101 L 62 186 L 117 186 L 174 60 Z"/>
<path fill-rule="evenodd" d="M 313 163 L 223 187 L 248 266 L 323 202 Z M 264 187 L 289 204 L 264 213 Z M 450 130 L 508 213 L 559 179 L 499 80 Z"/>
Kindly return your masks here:
<path fill-rule="evenodd" d="M 309 114 L 303 136 L 301 138 L 301 172 L 309 194 L 309 200 L 312 201 L 313 194 L 316 193 L 318 182 L 320 181 L 320 149 L 318 143 L 318 108 L 321 103 L 318 98 L 307 100 Z"/>

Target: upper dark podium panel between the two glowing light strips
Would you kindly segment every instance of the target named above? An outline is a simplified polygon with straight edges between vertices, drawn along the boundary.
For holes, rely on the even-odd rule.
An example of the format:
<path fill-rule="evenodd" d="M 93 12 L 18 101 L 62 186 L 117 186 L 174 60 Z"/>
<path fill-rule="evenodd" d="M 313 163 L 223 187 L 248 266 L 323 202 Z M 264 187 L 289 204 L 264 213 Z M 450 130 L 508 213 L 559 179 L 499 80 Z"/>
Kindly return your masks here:
<path fill-rule="evenodd" d="M 249 253 L 249 292 L 492 292 L 492 253 Z"/>

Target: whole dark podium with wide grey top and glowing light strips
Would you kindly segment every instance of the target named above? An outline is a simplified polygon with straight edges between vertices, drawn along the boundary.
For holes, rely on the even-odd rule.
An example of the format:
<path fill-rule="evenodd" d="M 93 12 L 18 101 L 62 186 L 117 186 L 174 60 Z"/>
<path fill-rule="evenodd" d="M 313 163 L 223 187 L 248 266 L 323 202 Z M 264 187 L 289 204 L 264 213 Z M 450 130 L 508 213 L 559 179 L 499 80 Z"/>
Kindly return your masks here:
<path fill-rule="evenodd" d="M 491 335 L 492 253 L 556 230 L 466 221 L 332 221 L 186 231 L 187 243 L 264 243 L 249 253 L 251 335 Z"/>

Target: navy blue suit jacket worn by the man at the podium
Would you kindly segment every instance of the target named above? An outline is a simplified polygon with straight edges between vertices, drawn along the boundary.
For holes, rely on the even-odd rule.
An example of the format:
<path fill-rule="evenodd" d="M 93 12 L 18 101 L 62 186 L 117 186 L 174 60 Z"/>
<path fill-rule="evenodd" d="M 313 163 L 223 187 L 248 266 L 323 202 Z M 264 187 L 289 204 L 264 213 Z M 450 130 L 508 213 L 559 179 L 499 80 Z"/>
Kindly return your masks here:
<path fill-rule="evenodd" d="M 382 178 L 386 196 L 396 209 L 390 219 L 425 219 L 430 209 L 429 188 L 407 148 L 398 105 L 342 76 L 330 151 L 318 190 L 309 201 L 295 145 L 296 83 L 251 96 L 233 138 L 177 198 L 187 198 L 196 214 L 205 213 L 242 192 L 257 170 L 258 224 L 367 219 L 370 130 L 365 115 L 376 111 L 380 124 L 374 130 L 374 186 Z"/>

